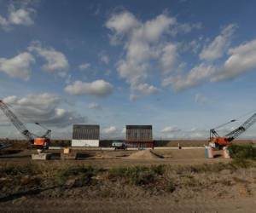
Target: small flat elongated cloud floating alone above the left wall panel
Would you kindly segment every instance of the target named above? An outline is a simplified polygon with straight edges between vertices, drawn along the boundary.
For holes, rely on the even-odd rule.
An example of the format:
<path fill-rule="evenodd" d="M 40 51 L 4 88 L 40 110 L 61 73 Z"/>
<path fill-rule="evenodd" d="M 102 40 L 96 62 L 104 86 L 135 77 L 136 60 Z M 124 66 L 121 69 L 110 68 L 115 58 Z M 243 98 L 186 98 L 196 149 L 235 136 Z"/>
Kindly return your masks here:
<path fill-rule="evenodd" d="M 104 80 L 96 80 L 91 83 L 76 81 L 65 88 L 67 93 L 71 95 L 95 95 L 107 96 L 113 92 L 113 86 Z"/>

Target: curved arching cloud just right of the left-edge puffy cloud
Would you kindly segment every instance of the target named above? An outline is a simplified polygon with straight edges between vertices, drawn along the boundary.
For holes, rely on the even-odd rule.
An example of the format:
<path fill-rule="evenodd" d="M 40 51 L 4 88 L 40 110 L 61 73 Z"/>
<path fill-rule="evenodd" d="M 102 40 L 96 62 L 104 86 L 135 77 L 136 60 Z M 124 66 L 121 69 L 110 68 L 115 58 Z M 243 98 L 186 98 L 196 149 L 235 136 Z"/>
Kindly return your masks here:
<path fill-rule="evenodd" d="M 35 51 L 38 55 L 42 56 L 46 60 L 46 64 L 43 66 L 44 70 L 49 72 L 66 73 L 69 67 L 66 56 L 56 51 L 53 48 L 43 48 L 41 43 L 34 41 L 28 47 L 29 51 Z"/>

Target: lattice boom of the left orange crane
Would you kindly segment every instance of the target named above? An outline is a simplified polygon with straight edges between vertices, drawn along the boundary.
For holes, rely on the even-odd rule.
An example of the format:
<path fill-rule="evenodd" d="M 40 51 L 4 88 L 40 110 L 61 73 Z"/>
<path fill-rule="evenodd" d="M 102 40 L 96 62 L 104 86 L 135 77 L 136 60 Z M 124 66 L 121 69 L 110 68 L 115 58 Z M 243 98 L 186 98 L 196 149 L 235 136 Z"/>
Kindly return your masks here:
<path fill-rule="evenodd" d="M 17 118 L 17 116 L 15 116 L 14 112 L 11 112 L 9 107 L 2 100 L 0 100 L 0 108 L 6 117 L 9 118 L 10 122 L 15 125 L 15 128 L 19 130 L 20 133 L 24 135 L 28 141 L 34 140 L 34 135 L 26 129 L 26 126 L 20 121 L 19 118 Z"/>

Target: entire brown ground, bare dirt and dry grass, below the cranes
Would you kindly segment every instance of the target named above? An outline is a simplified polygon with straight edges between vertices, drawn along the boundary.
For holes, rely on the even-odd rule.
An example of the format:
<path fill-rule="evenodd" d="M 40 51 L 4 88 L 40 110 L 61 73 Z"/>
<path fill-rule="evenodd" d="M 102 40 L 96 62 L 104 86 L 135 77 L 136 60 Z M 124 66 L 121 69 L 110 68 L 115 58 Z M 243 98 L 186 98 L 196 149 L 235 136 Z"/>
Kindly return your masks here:
<path fill-rule="evenodd" d="M 256 164 L 204 149 L 76 150 L 78 160 L 0 153 L 1 212 L 255 212 Z"/>

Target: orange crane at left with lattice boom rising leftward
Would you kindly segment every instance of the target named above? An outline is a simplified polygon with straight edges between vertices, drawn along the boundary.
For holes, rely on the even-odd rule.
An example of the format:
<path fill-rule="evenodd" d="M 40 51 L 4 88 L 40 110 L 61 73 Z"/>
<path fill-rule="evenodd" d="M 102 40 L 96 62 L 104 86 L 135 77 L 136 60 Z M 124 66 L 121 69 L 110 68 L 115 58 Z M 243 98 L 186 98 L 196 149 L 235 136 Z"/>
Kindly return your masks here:
<path fill-rule="evenodd" d="M 21 135 L 24 135 L 26 137 L 26 140 L 32 144 L 32 147 L 38 148 L 38 152 L 42 152 L 43 150 L 48 149 L 51 130 L 46 129 L 42 124 L 35 123 L 46 130 L 46 132 L 42 136 L 35 135 L 27 130 L 26 126 L 2 100 L 0 100 L 0 108 L 6 115 L 6 117 L 9 118 L 9 121 L 14 124 L 15 128 L 20 131 Z"/>

